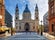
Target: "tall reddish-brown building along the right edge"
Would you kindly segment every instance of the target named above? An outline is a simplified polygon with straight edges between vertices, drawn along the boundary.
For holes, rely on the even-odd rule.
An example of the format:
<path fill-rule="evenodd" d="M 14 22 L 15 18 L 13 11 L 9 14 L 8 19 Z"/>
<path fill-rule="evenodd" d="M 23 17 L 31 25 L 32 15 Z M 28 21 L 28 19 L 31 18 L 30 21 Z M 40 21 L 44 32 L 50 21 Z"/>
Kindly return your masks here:
<path fill-rule="evenodd" d="M 55 34 L 55 0 L 49 0 L 49 33 Z"/>

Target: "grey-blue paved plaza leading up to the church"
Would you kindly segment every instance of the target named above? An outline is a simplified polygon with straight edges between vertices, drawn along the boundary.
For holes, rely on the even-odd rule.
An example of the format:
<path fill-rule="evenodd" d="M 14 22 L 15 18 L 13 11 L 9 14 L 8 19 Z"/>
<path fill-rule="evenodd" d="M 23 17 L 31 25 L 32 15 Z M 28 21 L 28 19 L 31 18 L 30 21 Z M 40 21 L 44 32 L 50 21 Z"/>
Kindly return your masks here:
<path fill-rule="evenodd" d="M 40 36 L 37 33 L 17 33 L 14 36 L 7 38 L 8 40 L 47 40 L 44 36 Z"/>

